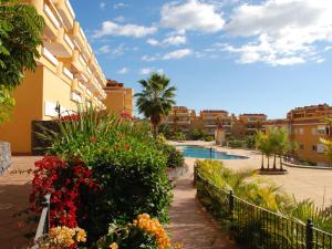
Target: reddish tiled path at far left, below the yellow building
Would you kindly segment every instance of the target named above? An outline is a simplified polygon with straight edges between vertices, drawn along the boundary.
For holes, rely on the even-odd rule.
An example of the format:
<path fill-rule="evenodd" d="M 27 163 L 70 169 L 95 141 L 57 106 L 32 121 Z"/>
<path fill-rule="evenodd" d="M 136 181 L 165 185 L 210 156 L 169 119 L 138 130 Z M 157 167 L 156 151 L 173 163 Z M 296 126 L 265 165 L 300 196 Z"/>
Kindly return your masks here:
<path fill-rule="evenodd" d="M 0 249 L 21 249 L 30 241 L 27 232 L 35 231 L 35 224 L 27 225 L 27 216 L 14 217 L 29 205 L 31 174 L 15 173 L 18 169 L 33 168 L 39 157 L 13 157 L 13 164 L 0 176 Z"/>

